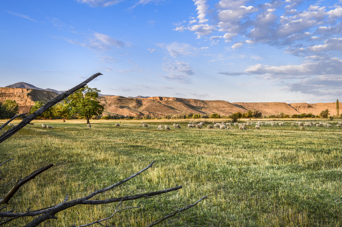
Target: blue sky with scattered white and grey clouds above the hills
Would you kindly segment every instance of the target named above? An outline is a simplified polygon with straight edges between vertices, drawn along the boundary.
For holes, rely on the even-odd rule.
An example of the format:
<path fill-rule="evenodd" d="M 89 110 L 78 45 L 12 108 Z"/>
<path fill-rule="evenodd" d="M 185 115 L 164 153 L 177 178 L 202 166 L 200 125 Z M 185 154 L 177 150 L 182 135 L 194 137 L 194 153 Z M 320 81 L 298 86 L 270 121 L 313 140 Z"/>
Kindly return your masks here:
<path fill-rule="evenodd" d="M 228 102 L 342 98 L 342 0 L 3 1 L 0 87 Z"/>

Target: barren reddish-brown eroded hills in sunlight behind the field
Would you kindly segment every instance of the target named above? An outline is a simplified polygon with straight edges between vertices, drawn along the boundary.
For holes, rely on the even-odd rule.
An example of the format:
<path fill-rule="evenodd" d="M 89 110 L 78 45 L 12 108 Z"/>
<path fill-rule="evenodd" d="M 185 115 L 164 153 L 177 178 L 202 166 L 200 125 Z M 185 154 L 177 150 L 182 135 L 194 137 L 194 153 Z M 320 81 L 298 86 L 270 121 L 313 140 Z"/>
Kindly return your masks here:
<path fill-rule="evenodd" d="M 33 85 L 32 85 L 33 86 Z M 57 94 L 47 90 L 30 88 L 0 87 L 0 101 L 15 100 L 19 104 L 19 112 L 28 112 L 35 101 L 48 102 Z M 165 116 L 167 114 L 195 114 L 218 113 L 229 115 L 240 111 L 259 110 L 263 115 L 313 113 L 318 115 L 322 110 L 329 109 L 331 115 L 336 115 L 336 103 L 292 103 L 285 102 L 235 102 L 222 100 L 199 100 L 174 97 L 126 98 L 123 96 L 99 96 L 99 101 L 105 106 L 105 113 L 124 116 L 151 114 Z"/>

